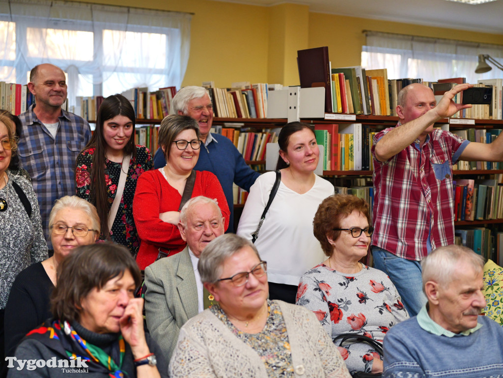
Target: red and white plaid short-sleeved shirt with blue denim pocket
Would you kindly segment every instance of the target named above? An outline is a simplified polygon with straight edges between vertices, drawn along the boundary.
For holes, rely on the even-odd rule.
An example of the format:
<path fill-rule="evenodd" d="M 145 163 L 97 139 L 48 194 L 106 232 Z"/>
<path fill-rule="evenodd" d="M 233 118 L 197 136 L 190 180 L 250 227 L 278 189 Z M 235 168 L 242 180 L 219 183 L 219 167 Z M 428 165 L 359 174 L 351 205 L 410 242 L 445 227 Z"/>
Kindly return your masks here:
<path fill-rule="evenodd" d="M 377 133 L 372 145 L 372 245 L 420 261 L 435 248 L 454 243 L 452 165 L 469 141 L 435 129 L 423 148 L 413 142 L 388 161 L 379 162 L 376 143 L 390 130 Z"/>

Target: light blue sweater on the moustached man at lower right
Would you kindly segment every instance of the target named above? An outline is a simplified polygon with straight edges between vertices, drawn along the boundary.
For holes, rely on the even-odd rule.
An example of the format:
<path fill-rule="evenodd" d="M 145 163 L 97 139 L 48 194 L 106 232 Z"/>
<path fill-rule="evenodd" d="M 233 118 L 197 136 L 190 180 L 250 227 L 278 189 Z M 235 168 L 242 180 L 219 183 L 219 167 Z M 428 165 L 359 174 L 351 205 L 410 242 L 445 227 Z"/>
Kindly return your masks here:
<path fill-rule="evenodd" d="M 396 324 L 384 338 L 383 378 L 503 378 L 503 328 L 479 316 L 468 336 L 437 336 L 416 317 Z"/>

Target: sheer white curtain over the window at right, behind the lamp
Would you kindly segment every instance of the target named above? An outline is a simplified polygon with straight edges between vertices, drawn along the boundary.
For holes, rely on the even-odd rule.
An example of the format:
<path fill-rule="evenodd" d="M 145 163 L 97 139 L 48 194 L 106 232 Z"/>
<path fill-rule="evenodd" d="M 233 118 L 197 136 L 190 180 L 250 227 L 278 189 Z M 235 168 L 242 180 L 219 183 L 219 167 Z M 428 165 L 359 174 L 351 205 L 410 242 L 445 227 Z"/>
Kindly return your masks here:
<path fill-rule="evenodd" d="M 388 79 L 413 78 L 435 82 L 466 78 L 467 83 L 477 83 L 481 79 L 503 78 L 503 71 L 494 66 L 489 72 L 475 73 L 478 54 L 489 54 L 503 63 L 503 46 L 500 45 L 379 32 L 366 32 L 366 39 L 362 66 L 387 68 Z"/>

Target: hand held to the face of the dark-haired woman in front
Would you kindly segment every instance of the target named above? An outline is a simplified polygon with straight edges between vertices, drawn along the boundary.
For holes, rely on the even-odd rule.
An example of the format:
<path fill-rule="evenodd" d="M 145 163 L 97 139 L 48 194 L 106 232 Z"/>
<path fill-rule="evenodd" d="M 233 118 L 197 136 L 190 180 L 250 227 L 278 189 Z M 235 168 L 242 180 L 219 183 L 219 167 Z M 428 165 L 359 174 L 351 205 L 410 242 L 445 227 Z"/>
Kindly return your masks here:
<path fill-rule="evenodd" d="M 142 357 L 149 353 L 143 330 L 143 299 L 131 298 L 126 310 L 119 320 L 121 333 L 124 340 L 131 346 L 134 358 Z"/>

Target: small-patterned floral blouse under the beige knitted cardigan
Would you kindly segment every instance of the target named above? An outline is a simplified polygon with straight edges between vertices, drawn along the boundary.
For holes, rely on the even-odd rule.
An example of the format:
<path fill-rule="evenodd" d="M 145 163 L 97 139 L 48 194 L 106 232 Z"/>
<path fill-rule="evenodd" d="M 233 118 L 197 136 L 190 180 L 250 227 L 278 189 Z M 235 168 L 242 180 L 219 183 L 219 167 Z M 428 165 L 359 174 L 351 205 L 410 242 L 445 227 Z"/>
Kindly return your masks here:
<path fill-rule="evenodd" d="M 267 304 L 269 317 L 266 326 L 256 334 L 238 330 L 220 306 L 212 306 L 210 310 L 238 339 L 257 352 L 264 362 L 268 377 L 294 377 L 292 352 L 283 314 L 274 302 L 268 300 Z"/>

